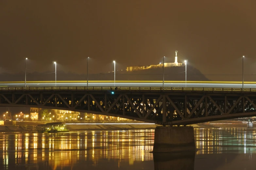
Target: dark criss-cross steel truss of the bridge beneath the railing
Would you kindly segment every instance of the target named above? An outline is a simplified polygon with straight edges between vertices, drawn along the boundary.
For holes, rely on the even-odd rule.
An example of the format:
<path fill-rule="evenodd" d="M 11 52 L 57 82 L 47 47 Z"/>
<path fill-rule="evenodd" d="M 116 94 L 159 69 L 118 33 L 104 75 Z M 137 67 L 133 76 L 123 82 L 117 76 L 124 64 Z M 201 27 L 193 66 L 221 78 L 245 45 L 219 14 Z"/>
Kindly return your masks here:
<path fill-rule="evenodd" d="M 0 92 L 0 106 L 79 110 L 162 125 L 254 115 L 255 103 L 255 95 L 243 93 Z"/>

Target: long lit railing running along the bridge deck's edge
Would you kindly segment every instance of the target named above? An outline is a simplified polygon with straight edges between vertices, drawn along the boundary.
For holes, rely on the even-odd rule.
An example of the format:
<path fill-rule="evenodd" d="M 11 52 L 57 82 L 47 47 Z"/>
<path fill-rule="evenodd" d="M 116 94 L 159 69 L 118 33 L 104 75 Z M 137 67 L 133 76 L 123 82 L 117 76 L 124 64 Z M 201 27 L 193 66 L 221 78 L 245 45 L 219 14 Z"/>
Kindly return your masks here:
<path fill-rule="evenodd" d="M 256 88 L 209 88 L 209 87 L 0 87 L 0 91 L 150 91 L 150 92 L 256 92 Z"/>

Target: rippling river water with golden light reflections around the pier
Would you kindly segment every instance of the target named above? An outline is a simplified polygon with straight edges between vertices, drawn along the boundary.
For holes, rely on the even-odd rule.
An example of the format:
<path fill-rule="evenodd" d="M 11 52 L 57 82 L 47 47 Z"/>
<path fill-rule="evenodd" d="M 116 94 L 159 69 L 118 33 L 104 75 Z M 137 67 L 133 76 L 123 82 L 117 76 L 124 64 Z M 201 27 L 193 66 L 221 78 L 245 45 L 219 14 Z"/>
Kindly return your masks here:
<path fill-rule="evenodd" d="M 0 169 L 250 170 L 256 129 L 195 129 L 197 151 L 153 154 L 154 130 L 1 133 Z"/>

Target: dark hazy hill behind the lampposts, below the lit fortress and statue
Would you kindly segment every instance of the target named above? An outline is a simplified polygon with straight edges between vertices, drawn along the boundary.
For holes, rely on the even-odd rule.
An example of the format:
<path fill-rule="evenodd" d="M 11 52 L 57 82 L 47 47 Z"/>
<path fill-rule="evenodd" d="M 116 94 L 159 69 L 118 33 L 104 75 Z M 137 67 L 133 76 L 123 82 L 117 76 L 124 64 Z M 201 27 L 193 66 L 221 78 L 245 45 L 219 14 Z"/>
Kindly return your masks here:
<path fill-rule="evenodd" d="M 19 72 L 17 74 L 2 73 L 0 74 L 0 81 L 24 81 L 25 73 Z M 64 72 L 57 70 L 57 80 L 87 80 L 86 74 L 76 74 L 71 72 Z M 89 80 L 114 80 L 114 72 L 89 74 Z M 162 68 L 137 70 L 133 72 L 116 71 L 116 80 L 162 80 Z M 164 80 L 185 80 L 185 67 L 166 67 L 164 68 Z M 187 81 L 207 81 L 199 70 L 188 65 L 187 66 Z M 27 73 L 26 81 L 55 81 L 55 73 Z"/>

